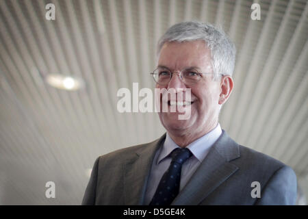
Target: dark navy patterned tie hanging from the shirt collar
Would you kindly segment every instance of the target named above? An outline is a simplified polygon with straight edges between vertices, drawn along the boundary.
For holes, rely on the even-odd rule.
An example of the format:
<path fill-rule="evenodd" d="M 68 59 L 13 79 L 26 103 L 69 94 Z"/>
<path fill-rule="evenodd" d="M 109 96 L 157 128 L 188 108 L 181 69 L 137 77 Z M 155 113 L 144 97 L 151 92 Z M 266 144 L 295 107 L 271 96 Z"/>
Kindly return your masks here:
<path fill-rule="evenodd" d="M 189 149 L 175 149 L 171 153 L 172 161 L 168 170 L 159 181 L 157 190 L 149 205 L 170 205 L 179 194 L 182 164 L 192 153 Z"/>

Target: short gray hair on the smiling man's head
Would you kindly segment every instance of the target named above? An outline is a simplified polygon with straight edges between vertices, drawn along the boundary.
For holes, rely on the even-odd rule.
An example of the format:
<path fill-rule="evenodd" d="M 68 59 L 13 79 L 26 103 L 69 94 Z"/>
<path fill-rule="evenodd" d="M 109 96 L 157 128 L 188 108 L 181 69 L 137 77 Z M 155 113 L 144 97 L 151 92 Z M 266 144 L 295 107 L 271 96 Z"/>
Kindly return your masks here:
<path fill-rule="evenodd" d="M 159 39 L 157 44 L 157 57 L 165 42 L 187 42 L 204 40 L 211 49 L 211 60 L 214 70 L 214 78 L 218 74 L 232 76 L 235 65 L 235 44 L 222 28 L 199 21 L 178 23 L 170 27 Z"/>

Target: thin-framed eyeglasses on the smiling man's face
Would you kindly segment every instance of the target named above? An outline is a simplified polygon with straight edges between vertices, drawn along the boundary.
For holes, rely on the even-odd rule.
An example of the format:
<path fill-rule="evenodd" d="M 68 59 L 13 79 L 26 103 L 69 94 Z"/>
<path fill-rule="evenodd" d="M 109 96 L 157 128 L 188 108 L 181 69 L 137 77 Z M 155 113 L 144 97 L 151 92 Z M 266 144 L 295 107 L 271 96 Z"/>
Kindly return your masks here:
<path fill-rule="evenodd" d="M 198 70 L 194 68 L 186 68 L 181 71 L 176 70 L 173 73 L 179 73 L 179 77 L 183 83 L 190 86 L 194 83 L 197 83 L 200 81 L 201 77 L 203 75 L 214 75 L 214 73 L 199 73 Z M 158 83 L 159 85 L 166 86 L 170 82 L 173 73 L 168 68 L 156 68 L 153 73 L 150 73 L 153 75 L 154 81 Z M 222 75 L 222 74 L 219 74 Z M 222 75 L 223 76 L 223 75 Z"/>

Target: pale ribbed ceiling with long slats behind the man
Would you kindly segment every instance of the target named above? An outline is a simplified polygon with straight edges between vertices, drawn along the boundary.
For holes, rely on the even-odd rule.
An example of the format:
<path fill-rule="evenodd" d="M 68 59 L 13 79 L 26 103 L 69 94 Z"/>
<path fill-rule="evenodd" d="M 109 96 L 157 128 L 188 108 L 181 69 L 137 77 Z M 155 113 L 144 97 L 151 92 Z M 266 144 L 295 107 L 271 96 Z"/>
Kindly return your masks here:
<path fill-rule="evenodd" d="M 190 20 L 221 25 L 238 50 L 222 128 L 307 175 L 307 12 L 305 0 L 0 1 L 0 204 L 78 205 L 95 158 L 159 138 L 158 116 L 120 114 L 116 93 L 153 89 L 159 36 Z M 52 88 L 51 73 L 86 88 Z M 47 181 L 56 198 L 44 196 Z"/>

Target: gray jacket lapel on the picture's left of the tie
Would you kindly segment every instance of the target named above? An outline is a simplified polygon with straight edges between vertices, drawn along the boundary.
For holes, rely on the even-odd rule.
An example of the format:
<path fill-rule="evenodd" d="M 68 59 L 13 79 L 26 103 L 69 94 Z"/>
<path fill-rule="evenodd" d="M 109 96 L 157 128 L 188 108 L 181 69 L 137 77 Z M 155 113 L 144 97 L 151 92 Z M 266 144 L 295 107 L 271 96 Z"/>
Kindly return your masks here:
<path fill-rule="evenodd" d="M 155 153 L 165 138 L 140 147 L 123 165 L 125 205 L 142 205 Z"/>

